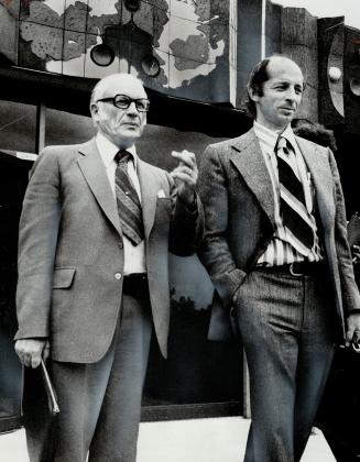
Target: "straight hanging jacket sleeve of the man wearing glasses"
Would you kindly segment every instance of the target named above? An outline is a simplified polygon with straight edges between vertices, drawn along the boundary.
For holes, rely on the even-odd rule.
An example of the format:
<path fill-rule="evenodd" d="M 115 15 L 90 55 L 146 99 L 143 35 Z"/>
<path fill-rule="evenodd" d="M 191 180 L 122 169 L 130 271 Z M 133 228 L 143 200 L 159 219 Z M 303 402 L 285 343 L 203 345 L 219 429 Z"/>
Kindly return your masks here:
<path fill-rule="evenodd" d="M 37 157 L 23 201 L 19 231 L 15 339 L 48 337 L 54 260 L 61 220 L 57 157 Z"/>

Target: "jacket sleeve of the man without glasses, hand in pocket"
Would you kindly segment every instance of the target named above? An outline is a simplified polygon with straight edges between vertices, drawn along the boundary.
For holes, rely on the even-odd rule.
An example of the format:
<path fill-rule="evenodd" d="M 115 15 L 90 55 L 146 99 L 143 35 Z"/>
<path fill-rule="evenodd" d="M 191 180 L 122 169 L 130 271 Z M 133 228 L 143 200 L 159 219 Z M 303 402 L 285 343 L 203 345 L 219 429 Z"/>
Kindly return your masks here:
<path fill-rule="evenodd" d="M 199 257 L 223 305 L 229 306 L 246 273 L 237 267 L 229 249 L 227 176 L 219 153 L 212 146 L 208 146 L 203 154 L 199 196 L 205 212 L 205 238 Z"/>

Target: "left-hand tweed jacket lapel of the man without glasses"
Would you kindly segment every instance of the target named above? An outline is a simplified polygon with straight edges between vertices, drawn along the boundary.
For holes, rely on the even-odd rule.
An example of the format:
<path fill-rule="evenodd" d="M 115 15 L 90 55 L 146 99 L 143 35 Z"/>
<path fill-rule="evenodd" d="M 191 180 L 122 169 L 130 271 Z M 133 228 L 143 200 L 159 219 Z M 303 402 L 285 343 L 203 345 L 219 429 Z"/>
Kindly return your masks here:
<path fill-rule="evenodd" d="M 230 161 L 258 198 L 260 206 L 270 218 L 271 223 L 275 226 L 272 183 L 253 130 L 233 140 Z"/>

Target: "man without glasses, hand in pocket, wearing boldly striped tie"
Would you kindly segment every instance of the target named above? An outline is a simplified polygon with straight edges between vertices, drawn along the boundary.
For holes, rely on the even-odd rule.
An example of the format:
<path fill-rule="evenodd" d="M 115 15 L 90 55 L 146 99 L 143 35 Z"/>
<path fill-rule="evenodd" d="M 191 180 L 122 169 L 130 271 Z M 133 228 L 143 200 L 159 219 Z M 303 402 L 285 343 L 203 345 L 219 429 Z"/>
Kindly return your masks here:
<path fill-rule="evenodd" d="M 248 86 L 253 128 L 210 145 L 199 173 L 200 257 L 215 286 L 209 336 L 239 329 L 249 363 L 247 462 L 301 459 L 334 343 L 360 336 L 332 153 L 291 129 L 303 89 L 293 61 L 262 61 Z"/>

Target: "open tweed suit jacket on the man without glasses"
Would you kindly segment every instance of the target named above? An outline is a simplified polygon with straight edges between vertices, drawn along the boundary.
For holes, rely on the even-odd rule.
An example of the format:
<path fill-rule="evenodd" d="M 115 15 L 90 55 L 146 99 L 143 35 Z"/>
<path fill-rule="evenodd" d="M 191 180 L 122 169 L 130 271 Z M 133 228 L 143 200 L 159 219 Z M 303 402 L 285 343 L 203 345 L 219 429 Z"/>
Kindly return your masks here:
<path fill-rule="evenodd" d="M 360 309 L 360 297 L 347 242 L 339 174 L 330 150 L 301 138 L 296 141 L 315 187 L 318 224 L 343 338 L 347 310 Z M 206 221 L 199 256 L 216 289 L 209 338 L 223 339 L 230 333 L 232 297 L 266 249 L 275 226 L 271 179 L 253 129 L 207 147 L 199 195 Z"/>

